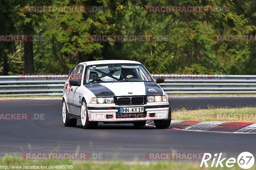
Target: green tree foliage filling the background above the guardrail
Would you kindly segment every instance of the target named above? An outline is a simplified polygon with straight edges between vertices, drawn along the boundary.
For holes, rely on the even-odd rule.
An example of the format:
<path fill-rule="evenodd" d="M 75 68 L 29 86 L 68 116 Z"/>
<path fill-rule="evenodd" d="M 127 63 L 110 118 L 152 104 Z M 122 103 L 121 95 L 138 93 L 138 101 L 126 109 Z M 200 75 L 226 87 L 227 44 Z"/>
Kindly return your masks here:
<path fill-rule="evenodd" d="M 26 5 L 103 6 L 104 12 L 24 13 Z M 150 5 L 226 6 L 227 12 L 147 13 Z M 256 34 L 255 5 L 254 0 L 4 0 L 0 31 L 44 35 L 45 41 L 34 43 L 36 73 L 67 72 L 83 61 L 128 59 L 151 73 L 256 74 L 255 42 L 214 41 L 216 35 Z M 101 34 L 167 35 L 168 41 L 90 41 L 90 35 Z M 22 47 L 0 43 L 0 74 L 23 73 Z"/>

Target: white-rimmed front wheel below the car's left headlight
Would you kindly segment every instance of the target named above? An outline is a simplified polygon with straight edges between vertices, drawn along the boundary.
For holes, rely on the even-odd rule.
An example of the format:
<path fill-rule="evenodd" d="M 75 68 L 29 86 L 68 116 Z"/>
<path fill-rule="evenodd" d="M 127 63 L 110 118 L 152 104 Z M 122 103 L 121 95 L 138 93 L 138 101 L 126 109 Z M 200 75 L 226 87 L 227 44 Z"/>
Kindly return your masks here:
<path fill-rule="evenodd" d="M 89 121 L 89 116 L 87 114 L 86 101 L 84 99 L 82 100 L 82 105 L 81 105 L 81 122 L 84 129 L 96 129 L 98 126 L 98 122 Z"/>

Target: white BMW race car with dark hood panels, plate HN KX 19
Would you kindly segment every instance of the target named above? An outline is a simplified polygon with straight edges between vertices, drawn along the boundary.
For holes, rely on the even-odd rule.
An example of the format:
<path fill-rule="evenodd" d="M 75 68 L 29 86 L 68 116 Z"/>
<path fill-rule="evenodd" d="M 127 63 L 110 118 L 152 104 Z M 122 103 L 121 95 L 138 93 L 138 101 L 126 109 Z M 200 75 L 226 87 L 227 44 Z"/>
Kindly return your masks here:
<path fill-rule="evenodd" d="M 133 123 L 145 126 L 154 120 L 156 128 L 171 123 L 168 96 L 156 78 L 139 62 L 101 60 L 79 63 L 69 71 L 62 98 L 65 126 L 75 127 L 77 120 L 84 129 L 93 129 L 98 122 Z"/>

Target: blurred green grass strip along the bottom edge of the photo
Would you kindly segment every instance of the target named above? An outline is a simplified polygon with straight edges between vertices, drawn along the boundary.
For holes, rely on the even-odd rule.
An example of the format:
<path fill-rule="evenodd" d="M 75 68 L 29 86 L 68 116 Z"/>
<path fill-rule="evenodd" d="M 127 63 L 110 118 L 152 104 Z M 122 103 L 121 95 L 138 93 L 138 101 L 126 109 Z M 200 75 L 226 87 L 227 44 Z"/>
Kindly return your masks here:
<path fill-rule="evenodd" d="M 122 161 L 71 161 L 71 160 L 24 160 L 18 156 L 6 156 L 0 159 L 0 166 L 12 166 L 11 169 L 31 169 L 30 166 L 47 166 L 46 169 L 49 169 L 49 166 L 71 166 L 74 170 L 85 170 L 85 169 L 97 169 L 97 170 L 165 170 L 165 169 L 181 169 L 181 170 L 197 170 L 202 169 L 200 168 L 201 161 L 177 161 L 177 160 L 170 160 L 170 161 L 159 161 L 159 162 L 122 162 Z M 208 163 L 210 166 L 211 163 Z M 234 164 L 232 168 L 224 167 L 221 168 L 223 170 L 229 169 L 241 169 L 237 165 Z M 15 168 L 13 166 L 22 166 L 22 168 Z M 203 166 L 204 167 L 204 166 Z M 220 167 L 213 167 L 211 169 L 219 169 Z M 2 168 L 3 169 L 3 168 Z M 32 169 L 35 169 L 32 168 Z M 39 168 L 41 169 L 41 168 Z M 68 168 L 51 168 L 51 169 L 68 169 Z M 70 168 L 71 169 L 71 168 Z M 206 169 L 205 167 L 203 169 Z M 252 166 L 251 169 L 256 169 L 256 166 Z"/>

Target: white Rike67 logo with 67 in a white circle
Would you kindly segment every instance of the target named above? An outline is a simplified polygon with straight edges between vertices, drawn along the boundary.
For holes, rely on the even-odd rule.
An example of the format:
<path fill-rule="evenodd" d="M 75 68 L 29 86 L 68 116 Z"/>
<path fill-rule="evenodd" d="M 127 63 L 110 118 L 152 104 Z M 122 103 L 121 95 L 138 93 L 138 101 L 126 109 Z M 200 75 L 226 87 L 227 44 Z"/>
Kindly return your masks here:
<path fill-rule="evenodd" d="M 214 158 L 212 159 L 212 154 L 204 153 L 200 167 L 202 167 L 203 164 L 205 165 L 205 167 L 208 167 L 207 161 L 210 159 L 212 159 L 212 164 L 210 167 L 214 167 L 216 158 L 217 158 L 217 161 L 216 161 L 215 167 L 218 167 L 219 165 L 220 167 L 224 167 L 223 166 L 224 160 L 227 158 L 221 159 L 221 155 L 222 153 L 220 153 L 219 156 L 217 153 L 215 153 Z M 224 165 L 230 168 L 230 167 L 233 167 L 236 162 L 241 168 L 249 169 L 254 165 L 254 156 L 250 152 L 242 152 L 238 155 L 237 160 L 235 158 L 229 158 L 226 160 L 226 163 Z"/>

